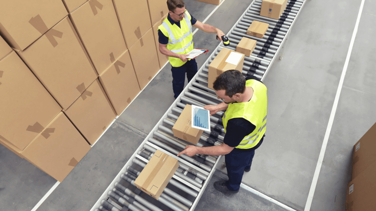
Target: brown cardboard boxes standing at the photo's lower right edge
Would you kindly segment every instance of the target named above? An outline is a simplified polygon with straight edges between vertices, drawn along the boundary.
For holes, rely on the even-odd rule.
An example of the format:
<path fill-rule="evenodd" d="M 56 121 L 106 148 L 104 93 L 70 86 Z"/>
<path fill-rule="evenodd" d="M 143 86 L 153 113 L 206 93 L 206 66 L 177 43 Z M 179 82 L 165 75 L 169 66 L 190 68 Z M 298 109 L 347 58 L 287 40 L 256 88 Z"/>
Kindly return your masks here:
<path fill-rule="evenodd" d="M 346 211 L 375 210 L 376 123 L 354 145 L 353 172 L 347 186 Z"/>

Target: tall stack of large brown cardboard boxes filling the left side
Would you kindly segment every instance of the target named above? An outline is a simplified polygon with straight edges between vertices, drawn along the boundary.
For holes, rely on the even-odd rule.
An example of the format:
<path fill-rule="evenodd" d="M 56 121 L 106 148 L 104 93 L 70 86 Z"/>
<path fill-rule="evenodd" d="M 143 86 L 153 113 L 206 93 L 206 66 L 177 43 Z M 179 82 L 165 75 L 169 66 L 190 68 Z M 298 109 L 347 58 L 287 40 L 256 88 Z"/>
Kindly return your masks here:
<path fill-rule="evenodd" d="M 167 62 L 152 28 L 167 13 L 164 0 L 2 3 L 0 143 L 62 181 Z"/>

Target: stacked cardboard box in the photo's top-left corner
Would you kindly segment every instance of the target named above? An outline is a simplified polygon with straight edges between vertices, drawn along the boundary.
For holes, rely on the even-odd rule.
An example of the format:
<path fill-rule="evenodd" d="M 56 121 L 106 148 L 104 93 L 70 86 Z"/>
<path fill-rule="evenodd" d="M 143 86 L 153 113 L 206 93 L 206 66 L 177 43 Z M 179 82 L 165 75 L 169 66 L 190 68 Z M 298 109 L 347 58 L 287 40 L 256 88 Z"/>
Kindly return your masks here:
<path fill-rule="evenodd" d="M 23 50 L 67 14 L 61 0 L 2 1 L 0 33 L 11 47 Z"/>

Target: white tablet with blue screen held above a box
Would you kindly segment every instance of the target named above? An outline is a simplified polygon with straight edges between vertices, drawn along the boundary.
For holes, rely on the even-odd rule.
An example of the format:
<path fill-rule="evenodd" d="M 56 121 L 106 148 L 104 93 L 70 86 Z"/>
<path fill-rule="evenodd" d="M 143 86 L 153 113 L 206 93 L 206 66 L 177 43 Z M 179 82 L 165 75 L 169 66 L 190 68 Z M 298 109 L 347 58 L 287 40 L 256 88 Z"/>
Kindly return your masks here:
<path fill-rule="evenodd" d="M 210 131 L 210 111 L 192 105 L 192 127 Z"/>

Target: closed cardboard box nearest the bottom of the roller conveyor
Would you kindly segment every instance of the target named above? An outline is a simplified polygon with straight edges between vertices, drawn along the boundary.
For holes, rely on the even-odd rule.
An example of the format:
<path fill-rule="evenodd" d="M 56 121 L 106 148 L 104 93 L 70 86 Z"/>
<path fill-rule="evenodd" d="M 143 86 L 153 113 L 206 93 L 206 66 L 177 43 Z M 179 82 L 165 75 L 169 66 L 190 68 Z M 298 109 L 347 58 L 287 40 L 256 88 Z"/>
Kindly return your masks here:
<path fill-rule="evenodd" d="M 158 200 L 178 167 L 178 160 L 157 150 L 134 184 L 138 189 Z"/>

